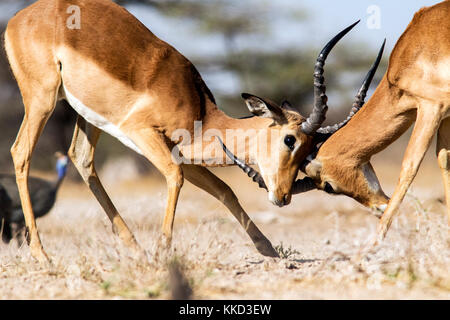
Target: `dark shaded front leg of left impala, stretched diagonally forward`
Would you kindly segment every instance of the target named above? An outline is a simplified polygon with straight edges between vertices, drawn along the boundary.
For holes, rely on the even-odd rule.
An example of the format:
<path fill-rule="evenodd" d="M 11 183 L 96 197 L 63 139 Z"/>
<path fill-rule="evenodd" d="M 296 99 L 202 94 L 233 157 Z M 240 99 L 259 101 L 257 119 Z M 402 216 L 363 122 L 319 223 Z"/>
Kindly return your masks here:
<path fill-rule="evenodd" d="M 278 253 L 270 241 L 253 223 L 239 204 L 234 192 L 225 182 L 211 173 L 207 168 L 200 166 L 183 165 L 183 173 L 189 182 L 211 194 L 231 211 L 241 226 L 244 227 L 245 232 L 247 232 L 259 253 L 268 257 L 278 257 Z"/>

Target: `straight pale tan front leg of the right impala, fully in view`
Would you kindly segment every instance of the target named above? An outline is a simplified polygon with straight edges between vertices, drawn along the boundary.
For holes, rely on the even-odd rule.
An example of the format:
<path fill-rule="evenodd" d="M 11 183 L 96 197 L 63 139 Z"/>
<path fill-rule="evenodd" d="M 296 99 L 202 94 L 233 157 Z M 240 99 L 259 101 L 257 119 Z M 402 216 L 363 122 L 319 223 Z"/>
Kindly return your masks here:
<path fill-rule="evenodd" d="M 416 124 L 414 125 L 414 130 L 403 157 L 402 169 L 400 171 L 397 187 L 389 201 L 388 207 L 381 217 L 378 225 L 377 237 L 373 242 L 373 246 L 377 245 L 378 242 L 382 241 L 386 236 L 392 223 L 392 219 L 405 197 L 411 182 L 416 176 L 420 163 L 439 127 L 439 122 L 442 118 L 441 110 L 429 103 L 424 103 L 421 107 L 422 108 L 417 110 Z"/>

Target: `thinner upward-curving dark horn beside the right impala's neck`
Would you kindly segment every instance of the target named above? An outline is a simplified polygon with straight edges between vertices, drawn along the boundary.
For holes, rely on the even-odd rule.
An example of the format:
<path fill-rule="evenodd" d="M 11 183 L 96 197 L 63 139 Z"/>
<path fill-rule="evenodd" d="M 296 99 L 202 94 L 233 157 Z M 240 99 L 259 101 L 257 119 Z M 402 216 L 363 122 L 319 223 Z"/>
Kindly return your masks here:
<path fill-rule="evenodd" d="M 378 52 L 377 59 L 373 63 L 372 67 L 370 68 L 369 72 L 366 75 L 366 78 L 364 79 L 364 82 L 361 86 L 361 88 L 358 91 L 358 94 L 355 97 L 355 101 L 353 102 L 352 109 L 350 110 L 350 113 L 344 121 L 341 123 L 337 123 L 333 126 L 328 126 L 324 128 L 317 129 L 318 133 L 331 135 L 341 129 L 343 126 L 347 124 L 347 122 L 350 121 L 350 119 L 362 108 L 364 105 L 364 100 L 366 99 L 367 91 L 369 90 L 370 83 L 372 82 L 373 76 L 377 72 L 378 65 L 380 64 L 381 57 L 383 56 L 384 51 L 384 45 L 386 44 L 386 39 L 383 41 L 383 45 L 381 46 L 380 51 Z"/>

